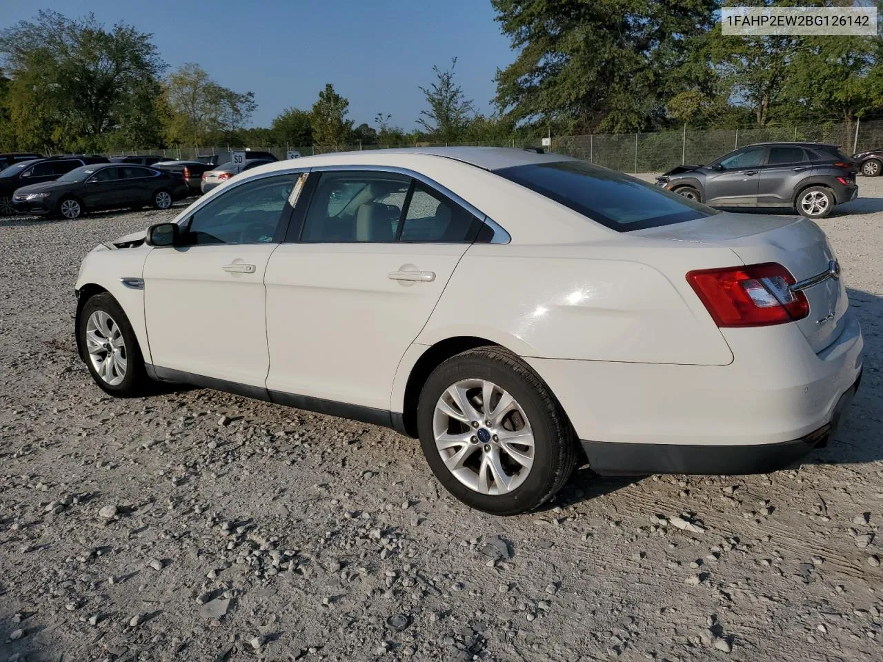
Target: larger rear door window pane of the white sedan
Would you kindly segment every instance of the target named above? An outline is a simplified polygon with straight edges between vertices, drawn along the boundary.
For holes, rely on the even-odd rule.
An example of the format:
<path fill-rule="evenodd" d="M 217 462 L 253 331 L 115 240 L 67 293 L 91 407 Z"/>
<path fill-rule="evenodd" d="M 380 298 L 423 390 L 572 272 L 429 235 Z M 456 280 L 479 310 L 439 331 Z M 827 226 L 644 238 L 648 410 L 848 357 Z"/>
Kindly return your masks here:
<path fill-rule="evenodd" d="M 411 178 L 382 172 L 323 172 L 300 240 L 314 243 L 396 240 Z"/>

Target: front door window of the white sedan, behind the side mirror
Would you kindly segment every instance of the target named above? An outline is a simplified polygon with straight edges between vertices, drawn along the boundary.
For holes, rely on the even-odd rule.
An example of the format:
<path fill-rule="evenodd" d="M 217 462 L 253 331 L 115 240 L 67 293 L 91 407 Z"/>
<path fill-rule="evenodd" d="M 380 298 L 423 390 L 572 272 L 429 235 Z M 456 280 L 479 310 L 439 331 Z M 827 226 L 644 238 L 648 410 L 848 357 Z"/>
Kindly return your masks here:
<path fill-rule="evenodd" d="M 190 244 L 265 244 L 272 242 L 298 175 L 254 179 L 219 194 L 190 217 Z"/>

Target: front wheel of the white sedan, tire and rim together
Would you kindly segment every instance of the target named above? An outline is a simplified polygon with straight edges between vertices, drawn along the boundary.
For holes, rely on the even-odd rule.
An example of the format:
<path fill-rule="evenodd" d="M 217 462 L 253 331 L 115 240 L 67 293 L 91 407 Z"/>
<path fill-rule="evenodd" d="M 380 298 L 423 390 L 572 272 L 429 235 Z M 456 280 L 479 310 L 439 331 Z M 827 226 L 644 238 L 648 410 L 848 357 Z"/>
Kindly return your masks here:
<path fill-rule="evenodd" d="M 77 335 L 89 373 L 103 391 L 117 397 L 147 391 L 150 378 L 138 339 L 117 299 L 108 292 L 90 297 L 79 314 Z"/>

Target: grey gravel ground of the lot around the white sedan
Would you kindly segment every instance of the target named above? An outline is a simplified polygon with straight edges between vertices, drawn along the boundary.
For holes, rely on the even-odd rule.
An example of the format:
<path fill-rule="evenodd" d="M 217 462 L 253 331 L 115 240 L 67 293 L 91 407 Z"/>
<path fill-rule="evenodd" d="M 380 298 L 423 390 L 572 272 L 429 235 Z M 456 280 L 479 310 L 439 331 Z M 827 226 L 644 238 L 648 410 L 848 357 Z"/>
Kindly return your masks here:
<path fill-rule="evenodd" d="M 883 178 L 860 183 L 820 223 L 866 340 L 839 440 L 767 476 L 583 468 L 506 519 L 389 430 L 103 395 L 79 261 L 173 212 L 0 220 L 0 662 L 883 659 Z"/>

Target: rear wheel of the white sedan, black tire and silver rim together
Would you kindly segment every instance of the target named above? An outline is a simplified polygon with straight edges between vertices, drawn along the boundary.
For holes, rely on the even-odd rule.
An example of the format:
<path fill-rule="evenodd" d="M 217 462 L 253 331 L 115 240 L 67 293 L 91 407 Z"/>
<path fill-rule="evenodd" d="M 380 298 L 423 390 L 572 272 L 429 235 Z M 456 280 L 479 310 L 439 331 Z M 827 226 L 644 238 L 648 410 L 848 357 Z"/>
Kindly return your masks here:
<path fill-rule="evenodd" d="M 539 508 L 576 466 L 575 434 L 561 405 L 502 348 L 465 351 L 435 368 L 420 392 L 417 419 L 435 477 L 467 506 L 493 515 Z"/>

